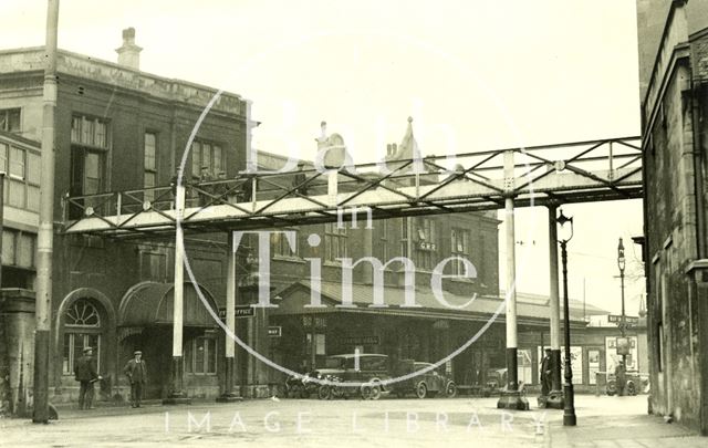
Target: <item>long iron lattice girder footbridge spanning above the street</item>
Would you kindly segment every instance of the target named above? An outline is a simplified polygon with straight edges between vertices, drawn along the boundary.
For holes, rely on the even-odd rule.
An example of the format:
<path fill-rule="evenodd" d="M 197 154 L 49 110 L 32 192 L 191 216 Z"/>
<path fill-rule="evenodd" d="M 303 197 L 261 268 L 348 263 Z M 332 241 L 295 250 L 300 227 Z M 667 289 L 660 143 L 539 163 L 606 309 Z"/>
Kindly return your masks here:
<path fill-rule="evenodd" d="M 639 137 L 607 138 L 455 156 L 428 156 L 233 179 L 112 191 L 63 200 L 65 233 L 142 238 L 187 232 L 333 222 L 345 212 L 372 219 L 559 206 L 642 196 Z"/>

